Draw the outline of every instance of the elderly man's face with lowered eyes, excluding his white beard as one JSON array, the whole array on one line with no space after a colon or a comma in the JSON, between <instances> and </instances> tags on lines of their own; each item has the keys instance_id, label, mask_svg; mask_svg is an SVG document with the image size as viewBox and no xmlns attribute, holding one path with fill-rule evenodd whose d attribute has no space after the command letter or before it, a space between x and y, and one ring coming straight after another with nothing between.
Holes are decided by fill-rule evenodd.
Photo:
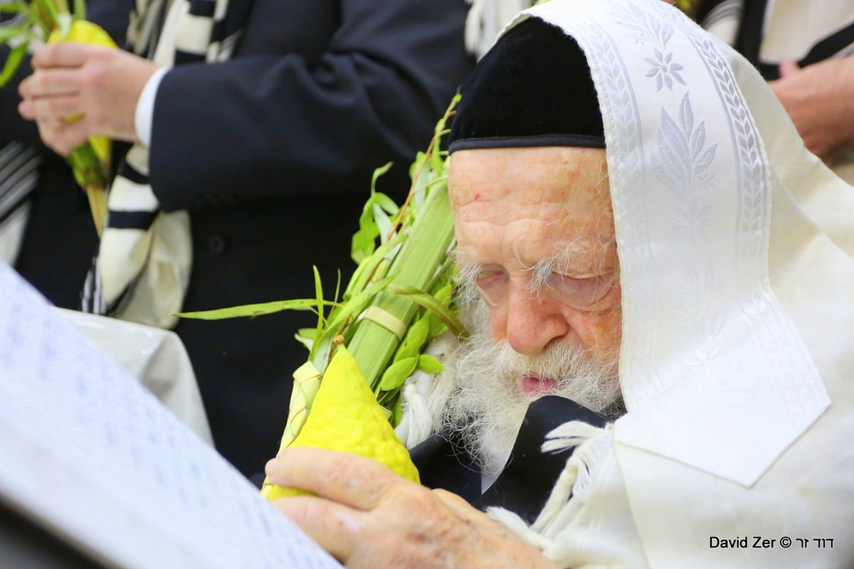
<instances>
[{"instance_id":1,"label":"elderly man's face with lowered eyes, excluding his white beard","mask_svg":"<svg viewBox=\"0 0 854 569\"><path fill-rule=\"evenodd\" d=\"M458 262L489 306L493 339L528 357L568 344L614 361L621 305L605 151L461 150L449 184ZM523 375L519 388L540 395L554 382Z\"/></svg>"}]
</instances>

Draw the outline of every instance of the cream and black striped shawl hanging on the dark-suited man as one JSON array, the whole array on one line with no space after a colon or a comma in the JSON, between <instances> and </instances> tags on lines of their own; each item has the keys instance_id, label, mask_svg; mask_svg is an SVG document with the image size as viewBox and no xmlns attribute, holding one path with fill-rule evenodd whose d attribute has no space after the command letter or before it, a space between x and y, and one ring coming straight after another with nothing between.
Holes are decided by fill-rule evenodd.
<instances>
[{"instance_id":1,"label":"cream and black striped shawl hanging on the dark-suited man","mask_svg":"<svg viewBox=\"0 0 854 569\"><path fill-rule=\"evenodd\" d=\"M221 61L227 0L137 0L128 41L165 67ZM187 212L162 212L149 185L149 150L135 144L109 189L107 223L85 282L83 310L172 328L190 278Z\"/></svg>"}]
</instances>

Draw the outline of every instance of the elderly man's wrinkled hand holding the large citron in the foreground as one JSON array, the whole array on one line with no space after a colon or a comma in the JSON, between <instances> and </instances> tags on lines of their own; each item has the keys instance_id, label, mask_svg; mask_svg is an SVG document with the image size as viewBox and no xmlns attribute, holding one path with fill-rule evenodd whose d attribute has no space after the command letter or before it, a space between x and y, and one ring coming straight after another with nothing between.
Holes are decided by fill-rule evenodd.
<instances>
[{"instance_id":1,"label":"elderly man's wrinkled hand holding the large citron in the foreground","mask_svg":"<svg viewBox=\"0 0 854 569\"><path fill-rule=\"evenodd\" d=\"M317 494L272 503L348 569L557 567L459 496L363 456L287 449L267 463L266 475Z\"/></svg>"}]
</instances>

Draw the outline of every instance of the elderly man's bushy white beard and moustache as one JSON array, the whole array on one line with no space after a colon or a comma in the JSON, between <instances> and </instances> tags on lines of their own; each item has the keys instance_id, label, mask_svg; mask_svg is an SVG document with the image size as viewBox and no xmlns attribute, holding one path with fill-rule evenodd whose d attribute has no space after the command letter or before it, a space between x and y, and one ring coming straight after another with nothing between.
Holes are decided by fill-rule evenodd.
<instances>
[{"instance_id":1,"label":"elderly man's bushy white beard and moustache","mask_svg":"<svg viewBox=\"0 0 854 569\"><path fill-rule=\"evenodd\" d=\"M504 467L531 401L519 388L523 375L553 378L548 395L569 398L604 415L618 415L623 399L617 380L617 354L603 363L575 345L552 345L538 357L519 354L506 340L495 343L482 300L460 307L470 336L444 362L452 378L442 421L461 434L466 450L486 476ZM541 396L539 396L541 397Z\"/></svg>"}]
</instances>

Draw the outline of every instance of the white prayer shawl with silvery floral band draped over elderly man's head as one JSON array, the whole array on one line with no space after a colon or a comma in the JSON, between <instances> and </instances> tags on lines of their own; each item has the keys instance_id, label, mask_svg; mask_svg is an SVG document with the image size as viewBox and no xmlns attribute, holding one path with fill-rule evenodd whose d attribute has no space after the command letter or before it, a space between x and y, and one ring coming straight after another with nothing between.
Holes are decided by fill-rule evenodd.
<instances>
[{"instance_id":1,"label":"white prayer shawl with silvery floral band draped over elderly man's head","mask_svg":"<svg viewBox=\"0 0 854 569\"><path fill-rule=\"evenodd\" d=\"M576 38L598 92L628 413L552 433L576 449L533 525L490 514L563 567L851 567L854 190L667 3L528 17Z\"/></svg>"}]
</instances>

